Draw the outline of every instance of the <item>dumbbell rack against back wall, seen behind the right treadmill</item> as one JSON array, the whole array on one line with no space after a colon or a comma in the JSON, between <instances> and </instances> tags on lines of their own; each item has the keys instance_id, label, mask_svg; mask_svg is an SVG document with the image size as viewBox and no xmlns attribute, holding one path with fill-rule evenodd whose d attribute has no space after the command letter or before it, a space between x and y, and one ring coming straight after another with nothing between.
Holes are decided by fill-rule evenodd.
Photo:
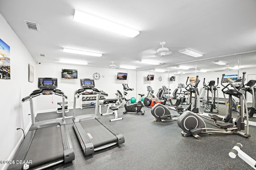
<instances>
[{"instance_id":1,"label":"dumbbell rack against back wall, seen behind the right treadmill","mask_svg":"<svg viewBox=\"0 0 256 170\"><path fill-rule=\"evenodd\" d=\"M83 109L86 107L95 107L96 97L97 97L97 94L95 92L93 92L93 93L84 92L80 98L80 109ZM100 96L99 104L102 104L104 99L105 99L104 96ZM92 102L94 102L94 105L91 105Z\"/></svg>"}]
</instances>

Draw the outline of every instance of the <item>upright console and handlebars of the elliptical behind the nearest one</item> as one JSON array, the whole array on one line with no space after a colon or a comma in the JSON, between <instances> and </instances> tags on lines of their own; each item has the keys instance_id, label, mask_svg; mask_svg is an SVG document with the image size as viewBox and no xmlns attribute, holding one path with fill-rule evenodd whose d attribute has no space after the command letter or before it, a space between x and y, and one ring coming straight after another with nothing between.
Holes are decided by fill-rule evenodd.
<instances>
[{"instance_id":1,"label":"upright console and handlebars of the elliptical behind the nearest one","mask_svg":"<svg viewBox=\"0 0 256 170\"><path fill-rule=\"evenodd\" d=\"M199 106L200 106L200 98L199 98L199 92L198 92L198 84L200 80L198 80L198 76L196 76L196 81L193 83L188 84L188 79L186 81L186 90L188 90L189 94L189 106L186 110L192 111L194 113L199 113ZM195 94L194 96L194 107L192 108L192 94Z\"/></svg>"}]
</instances>

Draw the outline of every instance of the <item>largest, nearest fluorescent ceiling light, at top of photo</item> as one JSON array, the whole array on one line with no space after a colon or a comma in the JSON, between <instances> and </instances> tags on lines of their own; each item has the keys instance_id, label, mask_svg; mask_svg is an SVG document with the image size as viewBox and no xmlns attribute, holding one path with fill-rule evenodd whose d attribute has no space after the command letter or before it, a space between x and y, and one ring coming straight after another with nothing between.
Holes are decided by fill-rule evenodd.
<instances>
[{"instance_id":1,"label":"largest, nearest fluorescent ceiling light, at top of photo","mask_svg":"<svg viewBox=\"0 0 256 170\"><path fill-rule=\"evenodd\" d=\"M128 27L124 27L122 25L118 25L116 23L103 20L101 18L86 14L78 10L75 10L73 20L90 26L105 29L107 31L118 33L121 35L126 35L127 37L135 37L140 33L139 31L136 31L134 29L130 29Z\"/></svg>"}]
</instances>

